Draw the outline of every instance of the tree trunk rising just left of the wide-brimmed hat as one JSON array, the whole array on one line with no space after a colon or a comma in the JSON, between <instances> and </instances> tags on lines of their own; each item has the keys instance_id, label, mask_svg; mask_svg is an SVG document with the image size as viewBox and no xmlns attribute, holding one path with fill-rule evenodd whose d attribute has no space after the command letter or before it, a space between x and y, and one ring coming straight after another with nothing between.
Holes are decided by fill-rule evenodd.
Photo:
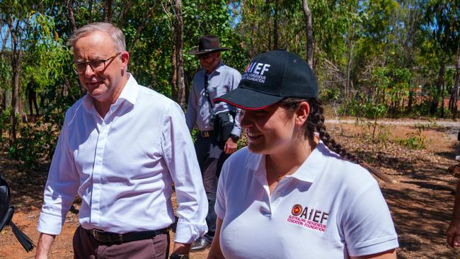
<instances>
[{"instance_id":1,"label":"tree trunk rising just left of the wide-brimmed hat","mask_svg":"<svg viewBox=\"0 0 460 259\"><path fill-rule=\"evenodd\" d=\"M183 21L181 0L174 1L176 26L174 28L173 88L176 88L177 103L185 108L184 60L183 60Z\"/></svg>"}]
</instances>

